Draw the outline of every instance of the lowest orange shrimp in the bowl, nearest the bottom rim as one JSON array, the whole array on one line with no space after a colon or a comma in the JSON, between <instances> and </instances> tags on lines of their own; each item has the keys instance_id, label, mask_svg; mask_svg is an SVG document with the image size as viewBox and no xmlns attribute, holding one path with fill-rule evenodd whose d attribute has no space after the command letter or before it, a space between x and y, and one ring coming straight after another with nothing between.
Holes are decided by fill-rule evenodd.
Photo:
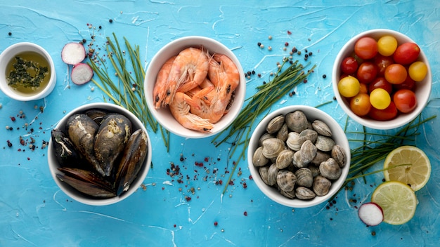
<instances>
[{"instance_id":1,"label":"lowest orange shrimp in the bowl, nearest the bottom rim","mask_svg":"<svg viewBox=\"0 0 440 247\"><path fill-rule=\"evenodd\" d=\"M169 104L169 109L176 119L183 127L194 131L210 132L214 125L209 123L206 119L190 113L190 106L187 101L190 97L185 93L176 92L172 103Z\"/></svg>"}]
</instances>

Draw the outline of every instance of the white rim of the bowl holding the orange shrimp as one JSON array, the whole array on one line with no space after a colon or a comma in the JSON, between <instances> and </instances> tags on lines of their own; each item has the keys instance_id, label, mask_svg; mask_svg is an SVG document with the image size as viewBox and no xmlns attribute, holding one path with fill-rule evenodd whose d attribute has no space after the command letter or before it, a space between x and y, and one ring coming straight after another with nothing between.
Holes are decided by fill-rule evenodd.
<instances>
[{"instance_id":1,"label":"white rim of the bowl holding the orange shrimp","mask_svg":"<svg viewBox=\"0 0 440 247\"><path fill-rule=\"evenodd\" d=\"M162 108L162 109L155 109L153 104L153 97L151 95L147 95L148 93L153 94L153 83L148 83L148 75L151 75L156 78L156 74L153 75L153 64L156 64L157 61L165 62L169 57L167 56L164 58L162 56L162 53L166 53L168 49L176 49L176 47L179 48L179 51L182 51L184 48L188 48L190 46L205 46L206 44L211 44L212 46L217 46L225 51L225 55L228 55L231 60L235 63L237 66L238 71L240 72L240 84L238 85L238 88L236 88L236 94L235 94L235 101L233 102L233 106L230 108L230 111L228 114L222 117L222 119L218 123L214 123L214 128L212 129L212 132L210 133L201 133L198 131L193 131L188 128L184 128L183 126L178 126L179 129L173 129L167 127L167 120L174 121L175 123L178 123L177 121L173 119L164 119L162 118L162 114L159 114L158 111L167 111L169 112L169 109ZM209 49L209 47L208 47ZM177 54L175 54L177 55ZM160 62L162 66L163 62ZM160 69L160 67L159 67ZM153 86L152 86L153 84ZM144 93L145 93L145 100L147 101L147 106L150 109L150 112L153 114L155 119L158 123L160 123L161 126L167 129L167 131L174 133L175 135L179 135L183 138L207 138L212 135L216 135L217 133L223 131L224 129L228 128L228 126L232 123L233 119L235 119L238 114L240 114L240 110L242 108L242 105L245 101L245 93L246 93L246 80L245 75L242 69L242 65L240 64L240 61L238 60L237 56L226 47L224 44L221 44L221 42L216 41L215 39L209 38L207 36L183 36L178 39L174 39L173 41L170 41L168 44L164 45L162 48L160 48L159 51L153 56L152 60L150 60L150 63L148 65L148 68L145 72L145 81L144 81ZM242 100L238 100L242 99ZM232 110L233 109L233 110ZM170 113L169 113L170 114ZM180 125L180 123L178 123ZM220 127L219 127L220 126Z\"/></svg>"}]
</instances>

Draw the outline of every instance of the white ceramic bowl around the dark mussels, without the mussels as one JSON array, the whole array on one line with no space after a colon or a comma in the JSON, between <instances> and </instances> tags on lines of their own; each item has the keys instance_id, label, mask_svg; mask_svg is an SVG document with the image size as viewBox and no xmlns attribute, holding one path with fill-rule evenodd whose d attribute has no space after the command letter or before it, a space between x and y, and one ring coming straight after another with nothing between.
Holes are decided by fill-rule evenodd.
<instances>
[{"instance_id":1,"label":"white ceramic bowl around the dark mussels, without the mussels","mask_svg":"<svg viewBox=\"0 0 440 247\"><path fill-rule=\"evenodd\" d=\"M81 107L77 107L73 109L71 112L65 114L63 118L58 122L58 125L56 128L64 128L64 126L67 123L67 119L72 116L73 114L80 113L80 112L86 112L86 110L89 109L104 109L108 112L115 112L119 114L123 114L124 116L127 116L127 118L131 121L133 126L133 131L136 131L137 129L142 129L147 133L145 126L143 126L142 122L134 116L131 112L129 112L127 109L123 107L119 107L117 105L113 105L111 103L91 103L87 105L82 105ZM123 192L120 196L108 198L108 199L100 199L100 198L94 198L93 196L87 196L85 194L82 194L81 192L77 191L77 189L74 189L70 185L67 185L67 183L60 181L56 174L62 174L60 171L58 171L58 168L60 168L60 164L58 163L55 153L53 150L53 144L52 144L52 138L49 140L48 145L48 166L51 171L51 175L53 180L55 180L58 187L60 187L67 196L70 196L72 199L75 199L76 201L79 201L84 204L93 205L93 206L104 206L104 205L110 205L112 203L117 203L118 201L122 201L129 197L131 194L136 192L136 190L141 186L143 180L145 180L145 177L150 169L150 163L151 163L151 145L150 145L150 138L148 136L148 154L145 158L145 161L143 163L143 166L141 170L139 171L136 179L131 182L131 185L129 189L126 192Z\"/></svg>"}]
</instances>

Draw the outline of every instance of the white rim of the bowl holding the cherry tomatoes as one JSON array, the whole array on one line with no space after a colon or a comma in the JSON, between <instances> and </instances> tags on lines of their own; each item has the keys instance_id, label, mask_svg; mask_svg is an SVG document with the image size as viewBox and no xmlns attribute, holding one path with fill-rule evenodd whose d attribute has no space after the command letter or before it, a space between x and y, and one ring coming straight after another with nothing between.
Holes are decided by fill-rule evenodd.
<instances>
[{"instance_id":1,"label":"white rim of the bowl holding the cherry tomatoes","mask_svg":"<svg viewBox=\"0 0 440 247\"><path fill-rule=\"evenodd\" d=\"M342 46L342 48L340 49L339 53L337 54L337 56L335 58L335 62L333 63L333 68L332 68L332 88L333 88L333 91L335 92L335 97L337 99L337 102L342 107L344 112L347 115L349 115L351 119L354 119L354 121L356 121L357 123L360 123L363 126L366 126L368 128L374 128L377 130L389 130L389 129L393 129L393 128L399 128L399 127L405 125L406 123L413 121L413 119L415 119L420 114L420 112L422 112L422 110L425 108L425 106L427 105L427 102L429 100L429 95L431 94L431 90L432 90L431 67L429 65L429 61L427 60L427 56L423 52L422 48L420 48L419 58L422 58L422 60L425 61L425 64L427 65L427 68L428 68L426 78L423 80L424 82L422 85L423 87L426 87L425 90L427 92L425 92L426 94L422 95L423 97L418 96L418 106L416 107L416 109L413 110L413 112L410 112L407 114L399 113L398 117L396 117L395 119L389 120L389 121L377 121L377 120L369 119L369 118L365 119L361 116L354 114L354 112L351 112L351 109L345 103L346 100L344 100L342 98L342 96L339 95L338 90L337 90L337 81L339 81L339 79L338 79L339 74L337 73L337 71L339 70L340 63L344 59L344 54L348 53L348 52L344 52L344 51L347 51L347 49L350 46L354 46L354 43L356 42L356 40L363 37L363 36L381 36L384 34L392 34L392 35L394 35L394 37L396 37L396 39L398 41L400 39L406 39L409 42L416 43L415 41L413 41L413 39L410 39L410 37L406 36L406 34L402 34L401 32L397 32L392 29L370 29L365 32L361 32L359 34L356 34L356 36L353 36L351 39L349 39L349 41L347 41L347 43L344 44L344 46ZM422 81L420 81L420 82L422 82Z\"/></svg>"}]
</instances>

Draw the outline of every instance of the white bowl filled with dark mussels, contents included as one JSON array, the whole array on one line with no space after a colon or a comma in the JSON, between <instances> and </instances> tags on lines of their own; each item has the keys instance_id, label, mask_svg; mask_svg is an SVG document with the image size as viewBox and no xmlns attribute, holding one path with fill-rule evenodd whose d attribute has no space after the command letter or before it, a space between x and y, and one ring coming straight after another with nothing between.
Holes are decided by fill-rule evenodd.
<instances>
[{"instance_id":1,"label":"white bowl filled with dark mussels, contents included","mask_svg":"<svg viewBox=\"0 0 440 247\"><path fill-rule=\"evenodd\" d=\"M81 203L103 206L133 194L151 163L143 123L123 107L91 103L73 109L51 131L48 165L56 184Z\"/></svg>"}]
</instances>

